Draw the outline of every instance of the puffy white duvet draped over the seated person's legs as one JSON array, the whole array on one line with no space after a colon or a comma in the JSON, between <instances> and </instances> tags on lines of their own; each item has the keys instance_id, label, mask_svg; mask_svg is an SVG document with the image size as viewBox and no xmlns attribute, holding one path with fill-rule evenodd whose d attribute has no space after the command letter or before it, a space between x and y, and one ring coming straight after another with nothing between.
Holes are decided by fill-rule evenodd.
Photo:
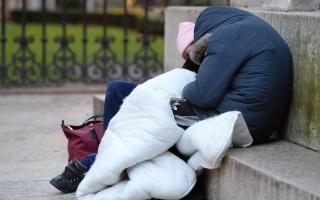
<instances>
[{"instance_id":1,"label":"puffy white duvet draped over the seated person's legs","mask_svg":"<svg viewBox=\"0 0 320 200\"><path fill-rule=\"evenodd\" d=\"M78 187L79 200L180 199L196 182L196 170L216 168L226 150L252 142L240 112L176 125L170 98L181 97L195 74L174 69L139 86L110 121L95 163ZM190 156L188 163L168 152Z\"/></svg>"}]
</instances>

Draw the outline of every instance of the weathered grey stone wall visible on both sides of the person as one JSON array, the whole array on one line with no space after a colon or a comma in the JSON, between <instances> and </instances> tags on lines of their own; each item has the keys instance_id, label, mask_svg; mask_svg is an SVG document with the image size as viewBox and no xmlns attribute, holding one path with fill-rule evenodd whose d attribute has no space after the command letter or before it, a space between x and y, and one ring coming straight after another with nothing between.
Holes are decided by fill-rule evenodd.
<instances>
[{"instance_id":1,"label":"weathered grey stone wall visible on both sides of the person","mask_svg":"<svg viewBox=\"0 0 320 200\"><path fill-rule=\"evenodd\" d=\"M272 1L269 1L269 5ZM289 8L290 5L297 5L292 3L298 1L277 2L278 5L287 3ZM231 5L232 2L235 1L231 0ZM311 2L316 5L318 1L310 0ZM303 6L305 5L301 4L299 9L304 9ZM179 22L195 21L203 9L204 7L169 7L166 10L165 70L183 64L183 59L179 57L175 46ZM267 11L262 7L246 8L246 10L269 22L283 36L292 51L293 102L283 137L308 148L320 150L320 11L280 12Z\"/></svg>"}]
</instances>

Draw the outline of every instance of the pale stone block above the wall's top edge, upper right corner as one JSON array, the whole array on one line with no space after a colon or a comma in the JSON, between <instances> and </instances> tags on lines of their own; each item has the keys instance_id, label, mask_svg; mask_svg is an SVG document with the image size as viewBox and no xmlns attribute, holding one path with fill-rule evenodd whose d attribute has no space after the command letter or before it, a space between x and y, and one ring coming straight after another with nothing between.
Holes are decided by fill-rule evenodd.
<instances>
[{"instance_id":1,"label":"pale stone block above the wall's top edge, upper right corner","mask_svg":"<svg viewBox=\"0 0 320 200\"><path fill-rule=\"evenodd\" d=\"M320 0L267 0L263 8L274 11L314 11L319 10Z\"/></svg>"}]
</instances>

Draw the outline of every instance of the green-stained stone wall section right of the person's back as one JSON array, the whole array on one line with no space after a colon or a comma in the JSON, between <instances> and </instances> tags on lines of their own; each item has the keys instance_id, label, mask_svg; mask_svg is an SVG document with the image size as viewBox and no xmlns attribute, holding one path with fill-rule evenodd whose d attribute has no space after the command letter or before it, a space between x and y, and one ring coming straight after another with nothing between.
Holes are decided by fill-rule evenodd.
<instances>
[{"instance_id":1,"label":"green-stained stone wall section right of the person's back","mask_svg":"<svg viewBox=\"0 0 320 200\"><path fill-rule=\"evenodd\" d=\"M252 12L279 31L293 55L293 102L284 137L320 150L320 11Z\"/></svg>"}]
</instances>

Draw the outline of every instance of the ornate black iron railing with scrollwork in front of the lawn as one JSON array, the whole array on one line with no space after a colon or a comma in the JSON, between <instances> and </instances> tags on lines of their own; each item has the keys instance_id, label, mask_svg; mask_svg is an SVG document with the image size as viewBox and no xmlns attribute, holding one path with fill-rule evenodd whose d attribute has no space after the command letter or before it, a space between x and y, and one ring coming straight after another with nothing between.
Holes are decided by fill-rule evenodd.
<instances>
[{"instance_id":1,"label":"ornate black iron railing with scrollwork in front of the lawn","mask_svg":"<svg viewBox=\"0 0 320 200\"><path fill-rule=\"evenodd\" d=\"M62 4L62 34L55 38L48 38L47 30L47 0L41 1L41 38L28 36L27 29L27 0L22 1L21 13L21 35L14 38L18 48L10 55L10 61L6 59L7 44L7 13L6 4L9 0L1 0L1 66L0 66L0 87L18 85L50 85L66 82L105 83L113 79L125 79L144 81L162 72L162 60L157 51L151 47L154 38L149 33L149 8L150 1L143 1L144 19L143 34L139 38L140 47L133 53L133 59L129 59L128 52L128 8L127 1L123 1L123 59L111 48L115 38L109 34L108 0L103 0L103 21L101 24L102 35L95 38L99 47L93 55L88 55L88 12L87 3L81 2L82 13L82 59L78 60L74 50L71 48L75 42L74 36L68 34L68 7L67 1L60 1ZM52 0L48 0L52 1ZM120 1L120 0L119 0ZM166 3L168 1L165 1ZM210 2L207 1L209 4ZM41 40L41 56L36 58L34 49L30 48L35 40ZM48 41L54 40L58 48L54 53L48 55ZM37 51L39 52L39 51ZM38 55L39 56L39 55ZM88 59L88 57L93 59Z\"/></svg>"}]
</instances>

